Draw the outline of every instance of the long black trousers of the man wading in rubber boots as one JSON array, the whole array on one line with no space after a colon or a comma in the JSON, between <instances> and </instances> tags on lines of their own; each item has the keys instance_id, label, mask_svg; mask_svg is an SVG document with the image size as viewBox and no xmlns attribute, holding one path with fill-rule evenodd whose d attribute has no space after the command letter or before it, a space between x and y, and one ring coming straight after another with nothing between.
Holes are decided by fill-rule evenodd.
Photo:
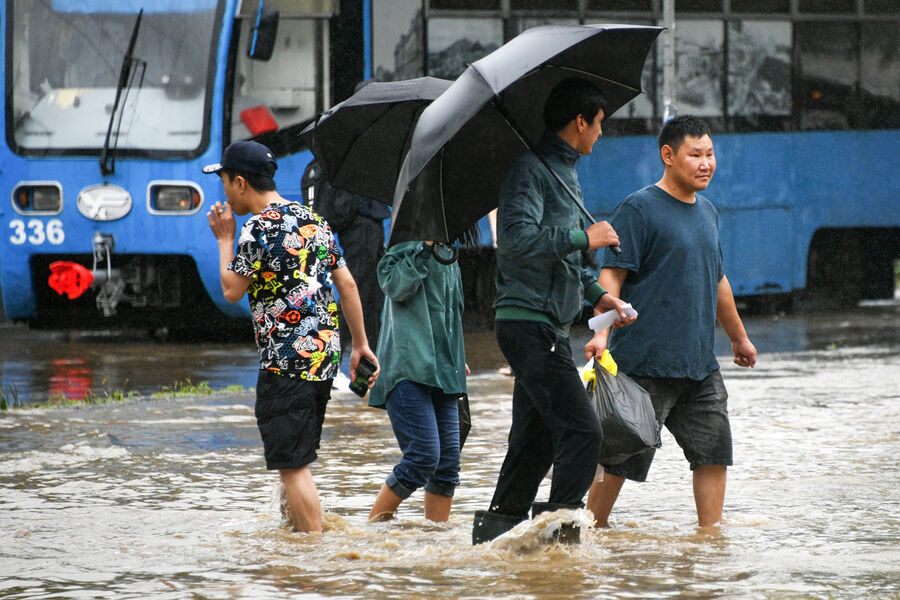
<instances>
[{"instance_id":1,"label":"long black trousers of the man wading in rubber boots","mask_svg":"<svg viewBox=\"0 0 900 600\"><path fill-rule=\"evenodd\" d=\"M516 382L509 449L490 510L528 518L551 465L549 501L584 506L603 434L572 359L569 338L532 321L497 321L495 330Z\"/></svg>"}]
</instances>

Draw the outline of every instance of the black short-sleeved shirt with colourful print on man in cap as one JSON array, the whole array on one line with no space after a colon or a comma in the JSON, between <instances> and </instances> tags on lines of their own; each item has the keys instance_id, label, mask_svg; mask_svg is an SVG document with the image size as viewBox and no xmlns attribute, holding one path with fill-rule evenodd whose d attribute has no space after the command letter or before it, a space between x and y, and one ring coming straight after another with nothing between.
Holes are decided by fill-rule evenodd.
<instances>
[{"instance_id":1,"label":"black short-sleeved shirt with colourful print on man in cap","mask_svg":"<svg viewBox=\"0 0 900 600\"><path fill-rule=\"evenodd\" d=\"M346 266L328 224L297 202L272 203L241 229L229 269L247 294L261 369L332 379L341 360L331 271Z\"/></svg>"}]
</instances>

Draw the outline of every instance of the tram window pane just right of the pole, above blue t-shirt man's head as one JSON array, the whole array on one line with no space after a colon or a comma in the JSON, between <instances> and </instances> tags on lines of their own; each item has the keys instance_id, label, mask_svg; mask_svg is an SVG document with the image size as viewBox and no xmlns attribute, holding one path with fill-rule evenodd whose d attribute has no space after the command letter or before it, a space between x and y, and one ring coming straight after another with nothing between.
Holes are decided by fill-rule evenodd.
<instances>
[{"instance_id":1,"label":"tram window pane just right of the pole, above blue t-shirt man's head","mask_svg":"<svg viewBox=\"0 0 900 600\"><path fill-rule=\"evenodd\" d=\"M722 117L724 23L682 20L675 28L675 95L679 114ZM712 125L712 122L710 123Z\"/></svg>"}]
</instances>

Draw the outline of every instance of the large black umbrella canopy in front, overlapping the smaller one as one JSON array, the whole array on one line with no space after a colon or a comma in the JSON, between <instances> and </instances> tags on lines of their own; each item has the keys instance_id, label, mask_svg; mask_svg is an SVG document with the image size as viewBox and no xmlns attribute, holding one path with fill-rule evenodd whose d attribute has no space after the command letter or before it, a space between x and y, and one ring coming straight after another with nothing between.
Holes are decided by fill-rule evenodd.
<instances>
[{"instance_id":1,"label":"large black umbrella canopy in front, overlapping the smaller one","mask_svg":"<svg viewBox=\"0 0 900 600\"><path fill-rule=\"evenodd\" d=\"M470 65L419 116L397 179L389 243L451 241L496 208L507 167L540 138L550 90L563 79L587 79L611 115L641 92L660 31L535 27Z\"/></svg>"}]
</instances>

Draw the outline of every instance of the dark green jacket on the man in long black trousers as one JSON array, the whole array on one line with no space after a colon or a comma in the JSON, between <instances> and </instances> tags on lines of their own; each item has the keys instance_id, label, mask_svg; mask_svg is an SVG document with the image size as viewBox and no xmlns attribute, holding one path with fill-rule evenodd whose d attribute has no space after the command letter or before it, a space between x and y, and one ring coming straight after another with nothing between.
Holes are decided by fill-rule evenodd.
<instances>
[{"instance_id":1,"label":"dark green jacket on the man in long black trousers","mask_svg":"<svg viewBox=\"0 0 900 600\"><path fill-rule=\"evenodd\" d=\"M535 148L579 198L575 162L581 154L552 132ZM575 202L541 164L524 152L506 171L497 212L497 320L541 321L568 334L584 300L605 290L582 266L584 220Z\"/></svg>"}]
</instances>

